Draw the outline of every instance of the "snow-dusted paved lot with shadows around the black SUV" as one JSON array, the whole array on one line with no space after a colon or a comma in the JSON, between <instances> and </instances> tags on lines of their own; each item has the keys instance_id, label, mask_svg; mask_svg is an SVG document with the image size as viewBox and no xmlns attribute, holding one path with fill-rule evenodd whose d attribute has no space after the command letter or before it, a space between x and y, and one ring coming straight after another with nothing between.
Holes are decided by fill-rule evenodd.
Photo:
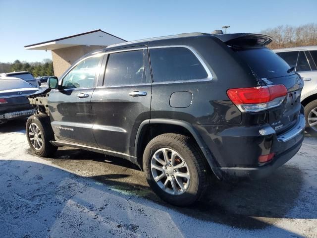
<instances>
[{"instance_id":1,"label":"snow-dusted paved lot with shadows around the black SUV","mask_svg":"<svg viewBox=\"0 0 317 238\"><path fill-rule=\"evenodd\" d=\"M216 182L177 208L122 159L67 147L32 155L24 125L0 125L0 238L317 237L317 138L269 178Z\"/></svg>"}]
</instances>

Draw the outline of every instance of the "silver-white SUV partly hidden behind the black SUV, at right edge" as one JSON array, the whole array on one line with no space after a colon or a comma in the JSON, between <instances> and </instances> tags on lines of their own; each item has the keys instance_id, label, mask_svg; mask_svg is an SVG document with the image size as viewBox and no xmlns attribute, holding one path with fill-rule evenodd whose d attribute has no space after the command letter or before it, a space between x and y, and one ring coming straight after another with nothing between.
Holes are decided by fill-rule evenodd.
<instances>
[{"instance_id":1,"label":"silver-white SUV partly hidden behind the black SUV, at right edge","mask_svg":"<svg viewBox=\"0 0 317 238\"><path fill-rule=\"evenodd\" d=\"M305 107L306 131L317 135L317 46L273 50L304 80L301 103Z\"/></svg>"}]
</instances>

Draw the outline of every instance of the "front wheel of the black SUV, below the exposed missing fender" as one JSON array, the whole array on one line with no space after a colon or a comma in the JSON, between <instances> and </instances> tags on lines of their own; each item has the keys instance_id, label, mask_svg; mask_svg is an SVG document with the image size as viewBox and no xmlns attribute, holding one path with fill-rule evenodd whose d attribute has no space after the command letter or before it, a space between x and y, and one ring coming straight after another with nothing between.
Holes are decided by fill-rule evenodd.
<instances>
[{"instance_id":1,"label":"front wheel of the black SUV, below the exposed missing fender","mask_svg":"<svg viewBox=\"0 0 317 238\"><path fill-rule=\"evenodd\" d=\"M37 114L28 118L26 137L36 155L47 157L53 155L57 150L57 147L50 142L54 140L54 132L50 118L46 114Z\"/></svg>"}]
</instances>

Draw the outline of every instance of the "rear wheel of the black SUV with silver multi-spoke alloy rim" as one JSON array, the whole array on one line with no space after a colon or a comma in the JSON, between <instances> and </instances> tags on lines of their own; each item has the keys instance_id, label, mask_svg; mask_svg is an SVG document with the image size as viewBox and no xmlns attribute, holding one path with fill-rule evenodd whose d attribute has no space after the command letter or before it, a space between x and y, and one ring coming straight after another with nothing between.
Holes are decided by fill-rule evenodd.
<instances>
[{"instance_id":1,"label":"rear wheel of the black SUV with silver multi-spoke alloy rim","mask_svg":"<svg viewBox=\"0 0 317 238\"><path fill-rule=\"evenodd\" d=\"M143 154L146 179L164 201L187 206L199 200L210 182L210 169L195 141L166 133L152 139Z\"/></svg>"}]
</instances>

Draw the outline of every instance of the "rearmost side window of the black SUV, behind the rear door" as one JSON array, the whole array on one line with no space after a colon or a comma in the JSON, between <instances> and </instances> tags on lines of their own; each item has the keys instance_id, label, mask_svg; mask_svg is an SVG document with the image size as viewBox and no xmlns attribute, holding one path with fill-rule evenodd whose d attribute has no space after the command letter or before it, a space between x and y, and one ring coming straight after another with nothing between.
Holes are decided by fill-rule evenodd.
<instances>
[{"instance_id":1,"label":"rearmost side window of the black SUV, behind the rear door","mask_svg":"<svg viewBox=\"0 0 317 238\"><path fill-rule=\"evenodd\" d=\"M208 74L194 53L185 47L150 49L154 82L205 79Z\"/></svg>"}]
</instances>

